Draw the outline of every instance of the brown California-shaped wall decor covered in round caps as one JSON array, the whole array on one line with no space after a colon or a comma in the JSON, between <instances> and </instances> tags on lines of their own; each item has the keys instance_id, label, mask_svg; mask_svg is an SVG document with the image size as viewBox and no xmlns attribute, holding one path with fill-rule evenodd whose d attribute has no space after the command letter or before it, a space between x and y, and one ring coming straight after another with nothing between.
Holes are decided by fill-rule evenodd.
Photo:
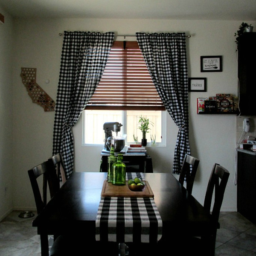
<instances>
[{"instance_id":1,"label":"brown California-shaped wall decor covered in round caps","mask_svg":"<svg viewBox=\"0 0 256 256\"><path fill-rule=\"evenodd\" d=\"M20 76L33 103L44 111L54 111L54 100L36 83L36 68L22 67Z\"/></svg>"}]
</instances>

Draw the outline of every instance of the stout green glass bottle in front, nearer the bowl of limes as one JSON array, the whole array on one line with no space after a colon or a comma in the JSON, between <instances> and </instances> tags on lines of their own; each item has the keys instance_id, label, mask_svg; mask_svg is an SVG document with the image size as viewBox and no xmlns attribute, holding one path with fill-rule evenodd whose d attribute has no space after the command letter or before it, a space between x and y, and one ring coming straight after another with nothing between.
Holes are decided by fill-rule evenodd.
<instances>
[{"instance_id":1,"label":"stout green glass bottle in front, nearer the bowl of limes","mask_svg":"<svg viewBox=\"0 0 256 256\"><path fill-rule=\"evenodd\" d=\"M117 155L116 163L112 165L112 180L111 183L113 185L125 185L126 178L126 166L122 162L122 154Z\"/></svg>"}]
</instances>

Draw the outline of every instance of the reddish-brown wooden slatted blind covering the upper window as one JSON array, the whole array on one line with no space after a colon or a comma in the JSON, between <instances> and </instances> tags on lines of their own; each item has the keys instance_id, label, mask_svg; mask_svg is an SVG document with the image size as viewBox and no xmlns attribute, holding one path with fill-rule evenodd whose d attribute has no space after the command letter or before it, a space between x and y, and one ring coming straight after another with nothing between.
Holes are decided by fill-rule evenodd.
<instances>
[{"instance_id":1,"label":"reddish-brown wooden slatted blind covering the upper window","mask_svg":"<svg viewBox=\"0 0 256 256\"><path fill-rule=\"evenodd\" d=\"M165 110L136 41L113 43L102 79L85 109Z\"/></svg>"}]
</instances>

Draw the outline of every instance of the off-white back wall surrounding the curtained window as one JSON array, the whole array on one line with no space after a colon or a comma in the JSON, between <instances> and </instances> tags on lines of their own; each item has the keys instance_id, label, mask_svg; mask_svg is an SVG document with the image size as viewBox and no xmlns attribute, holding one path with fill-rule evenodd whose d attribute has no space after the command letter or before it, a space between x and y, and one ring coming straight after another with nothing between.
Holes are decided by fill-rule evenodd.
<instances>
[{"instance_id":1,"label":"off-white back wall surrounding the curtained window","mask_svg":"<svg viewBox=\"0 0 256 256\"><path fill-rule=\"evenodd\" d=\"M234 32L242 21L221 20L122 20L122 19L47 19L15 20L15 59L13 61L13 108L15 165L13 167L14 209L35 209L27 170L52 154L54 112L44 112L32 103L21 82L21 67L37 68L37 83L56 100L63 37L67 31L113 31L119 35L135 32L186 32L189 77L207 77L207 92L189 93L189 139L191 153L200 160L193 195L204 200L209 174L214 163L230 171L222 209L236 210L235 170L236 116L198 115L196 98L216 93L237 95L237 63ZM255 22L247 21L254 26ZM0 28L1 29L1 28ZM126 38L133 40L135 38ZM123 40L118 37L117 40ZM223 55L223 72L201 73L201 55ZM49 79L49 84L45 81ZM7 80L7 79L6 79ZM2 89L1 89L2 90ZM8 108L6 108L8 110ZM81 118L73 128L75 169L99 172L102 147L86 147L81 142ZM103 132L103 130L102 130ZM172 172L177 127L168 116L167 146L148 148L154 172ZM1 171L0 171L1 172ZM1 185L3 186L3 185ZM3 190L3 187L0 189ZM1 191L2 191L1 190Z\"/></svg>"}]
</instances>

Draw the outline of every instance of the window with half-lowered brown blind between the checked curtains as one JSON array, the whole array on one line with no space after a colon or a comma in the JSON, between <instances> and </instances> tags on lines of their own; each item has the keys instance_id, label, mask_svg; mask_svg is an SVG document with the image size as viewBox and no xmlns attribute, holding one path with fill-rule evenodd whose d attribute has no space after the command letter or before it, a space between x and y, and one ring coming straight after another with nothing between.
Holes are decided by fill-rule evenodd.
<instances>
[{"instance_id":1,"label":"window with half-lowered brown blind between the checked curtains","mask_svg":"<svg viewBox=\"0 0 256 256\"><path fill-rule=\"evenodd\" d=\"M115 41L95 93L83 111L83 145L103 145L105 122L120 122L126 145L141 142L140 116L152 125L148 145L166 145L166 111L135 41ZM115 136L116 134L113 134Z\"/></svg>"}]
</instances>

